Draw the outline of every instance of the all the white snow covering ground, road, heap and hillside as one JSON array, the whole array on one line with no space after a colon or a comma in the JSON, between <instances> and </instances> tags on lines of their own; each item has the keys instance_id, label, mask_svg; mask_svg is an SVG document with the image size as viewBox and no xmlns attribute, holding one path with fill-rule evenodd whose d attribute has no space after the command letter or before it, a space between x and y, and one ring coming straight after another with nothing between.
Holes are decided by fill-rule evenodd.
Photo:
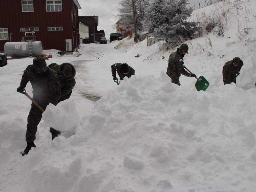
<instances>
[{"instance_id":1,"label":"all the white snow covering ground, road, heap and hillside","mask_svg":"<svg viewBox=\"0 0 256 192\"><path fill-rule=\"evenodd\" d=\"M256 2L239 1L239 14L230 2L218 4L232 11L224 36L186 42L185 65L210 82L205 92L196 91L193 77L170 83L171 51L159 51L162 42L82 44L61 57L44 50L53 55L47 65L75 66L76 86L69 100L48 106L27 156L20 151L31 101L16 89L32 59L8 60L0 68L0 191L254 192ZM235 21L245 15L250 30L240 40ZM244 61L237 84L224 86L222 67L237 56ZM117 85L116 62L128 63L135 76ZM30 83L26 91L32 96ZM53 141L51 122L66 131Z\"/></svg>"}]
</instances>

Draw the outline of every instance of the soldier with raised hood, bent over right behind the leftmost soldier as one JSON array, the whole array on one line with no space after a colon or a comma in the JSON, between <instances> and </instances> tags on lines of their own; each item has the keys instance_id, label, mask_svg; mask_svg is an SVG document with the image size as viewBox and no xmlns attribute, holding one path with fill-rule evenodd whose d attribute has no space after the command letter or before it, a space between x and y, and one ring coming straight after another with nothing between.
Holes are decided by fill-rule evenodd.
<instances>
[{"instance_id":1,"label":"soldier with raised hood, bent over right behind the leftmost soldier","mask_svg":"<svg viewBox=\"0 0 256 192\"><path fill-rule=\"evenodd\" d=\"M58 65L57 63L52 63L48 65L49 68L55 70L60 77L60 101L66 100L71 96L72 89L76 84L75 76L76 69L70 63L62 63Z\"/></svg>"}]
</instances>

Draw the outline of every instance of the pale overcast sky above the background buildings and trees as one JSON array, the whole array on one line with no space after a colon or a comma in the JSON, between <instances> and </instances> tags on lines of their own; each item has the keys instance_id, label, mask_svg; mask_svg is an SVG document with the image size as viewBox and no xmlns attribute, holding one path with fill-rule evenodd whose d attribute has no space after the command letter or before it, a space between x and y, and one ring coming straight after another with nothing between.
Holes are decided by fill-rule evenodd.
<instances>
[{"instance_id":1,"label":"pale overcast sky above the background buildings and trees","mask_svg":"<svg viewBox=\"0 0 256 192\"><path fill-rule=\"evenodd\" d=\"M78 0L81 9L79 9L79 16L99 16L98 30L104 29L106 37L109 39L110 33L116 33L116 29L113 29L111 25L117 22L115 15L117 14L117 6L122 0ZM210 0L189 0L189 3L195 8L204 6ZM214 0L212 0L214 1ZM119 5L121 6L121 5ZM113 11L112 11L113 10Z\"/></svg>"}]
</instances>

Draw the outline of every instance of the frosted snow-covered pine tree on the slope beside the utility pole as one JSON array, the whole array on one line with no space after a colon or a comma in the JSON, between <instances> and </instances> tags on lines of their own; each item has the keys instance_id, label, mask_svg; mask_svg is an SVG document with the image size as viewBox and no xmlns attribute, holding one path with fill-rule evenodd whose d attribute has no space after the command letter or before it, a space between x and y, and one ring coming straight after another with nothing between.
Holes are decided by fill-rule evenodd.
<instances>
[{"instance_id":1,"label":"frosted snow-covered pine tree on the slope beside the utility pole","mask_svg":"<svg viewBox=\"0 0 256 192\"><path fill-rule=\"evenodd\" d=\"M167 48L173 48L195 33L199 27L196 22L188 22L192 8L188 0L154 0L142 22L148 34L166 40Z\"/></svg>"}]
</instances>

